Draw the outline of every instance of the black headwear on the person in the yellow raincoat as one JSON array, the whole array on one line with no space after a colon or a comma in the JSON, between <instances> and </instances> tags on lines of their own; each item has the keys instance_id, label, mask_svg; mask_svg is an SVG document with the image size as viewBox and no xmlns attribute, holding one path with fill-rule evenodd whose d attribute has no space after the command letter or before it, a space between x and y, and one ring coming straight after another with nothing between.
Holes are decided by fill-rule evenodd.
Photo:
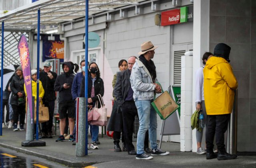
<instances>
[{"instance_id":1,"label":"black headwear on the person in the yellow raincoat","mask_svg":"<svg viewBox=\"0 0 256 168\"><path fill-rule=\"evenodd\" d=\"M228 46L227 44L219 43L215 46L213 55L217 57L222 57L228 62L230 62L229 60L230 50L231 50L231 47Z\"/></svg>"}]
</instances>

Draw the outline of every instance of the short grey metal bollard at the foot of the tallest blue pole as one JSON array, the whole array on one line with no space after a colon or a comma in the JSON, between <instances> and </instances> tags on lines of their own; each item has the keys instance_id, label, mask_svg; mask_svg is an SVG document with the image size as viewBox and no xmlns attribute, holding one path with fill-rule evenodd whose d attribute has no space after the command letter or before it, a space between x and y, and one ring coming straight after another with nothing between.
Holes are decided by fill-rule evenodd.
<instances>
[{"instance_id":1,"label":"short grey metal bollard at the foot of the tallest blue pole","mask_svg":"<svg viewBox=\"0 0 256 168\"><path fill-rule=\"evenodd\" d=\"M76 121L77 124L76 126L78 127L77 132L76 132L76 156L84 156L86 153L86 121L87 118L85 117L85 112L87 109L86 106L86 98L77 98L76 100L76 109L77 109L77 114L76 114Z\"/></svg>"}]
</instances>

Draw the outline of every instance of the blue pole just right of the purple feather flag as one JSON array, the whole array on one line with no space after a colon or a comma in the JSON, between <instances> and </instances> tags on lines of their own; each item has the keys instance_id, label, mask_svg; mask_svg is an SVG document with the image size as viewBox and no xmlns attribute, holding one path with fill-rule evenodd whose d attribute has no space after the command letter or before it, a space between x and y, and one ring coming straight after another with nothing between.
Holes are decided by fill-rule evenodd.
<instances>
[{"instance_id":1,"label":"blue pole just right of the purple feather flag","mask_svg":"<svg viewBox=\"0 0 256 168\"><path fill-rule=\"evenodd\" d=\"M38 140L39 108L39 57L40 54L40 9L37 10L37 80L36 80L36 140Z\"/></svg>"}]
</instances>

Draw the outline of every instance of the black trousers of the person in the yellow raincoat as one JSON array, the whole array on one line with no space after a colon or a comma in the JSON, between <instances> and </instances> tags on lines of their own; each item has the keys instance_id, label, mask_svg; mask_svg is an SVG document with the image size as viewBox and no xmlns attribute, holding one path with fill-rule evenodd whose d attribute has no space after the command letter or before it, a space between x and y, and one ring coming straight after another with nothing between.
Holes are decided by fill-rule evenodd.
<instances>
[{"instance_id":1,"label":"black trousers of the person in the yellow raincoat","mask_svg":"<svg viewBox=\"0 0 256 168\"><path fill-rule=\"evenodd\" d=\"M212 153L214 134L216 136L216 145L218 150L224 151L224 134L228 129L230 114L208 115L208 125L206 132L206 152Z\"/></svg>"}]
</instances>

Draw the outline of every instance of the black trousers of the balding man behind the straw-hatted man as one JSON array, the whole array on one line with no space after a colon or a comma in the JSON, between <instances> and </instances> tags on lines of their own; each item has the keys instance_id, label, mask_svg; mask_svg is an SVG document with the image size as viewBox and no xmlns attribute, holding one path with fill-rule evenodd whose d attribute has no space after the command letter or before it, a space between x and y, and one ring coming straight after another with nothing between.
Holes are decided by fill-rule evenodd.
<instances>
[{"instance_id":1,"label":"black trousers of the balding man behind the straw-hatted man","mask_svg":"<svg viewBox=\"0 0 256 168\"><path fill-rule=\"evenodd\" d=\"M132 144L132 134L134 127L135 116L138 116L138 111L135 106L134 101L126 101L122 104L122 114L123 114L123 126L124 126L124 138L126 143L126 148L128 152L134 150L134 145ZM148 148L148 131L145 135L144 148Z\"/></svg>"}]
</instances>

